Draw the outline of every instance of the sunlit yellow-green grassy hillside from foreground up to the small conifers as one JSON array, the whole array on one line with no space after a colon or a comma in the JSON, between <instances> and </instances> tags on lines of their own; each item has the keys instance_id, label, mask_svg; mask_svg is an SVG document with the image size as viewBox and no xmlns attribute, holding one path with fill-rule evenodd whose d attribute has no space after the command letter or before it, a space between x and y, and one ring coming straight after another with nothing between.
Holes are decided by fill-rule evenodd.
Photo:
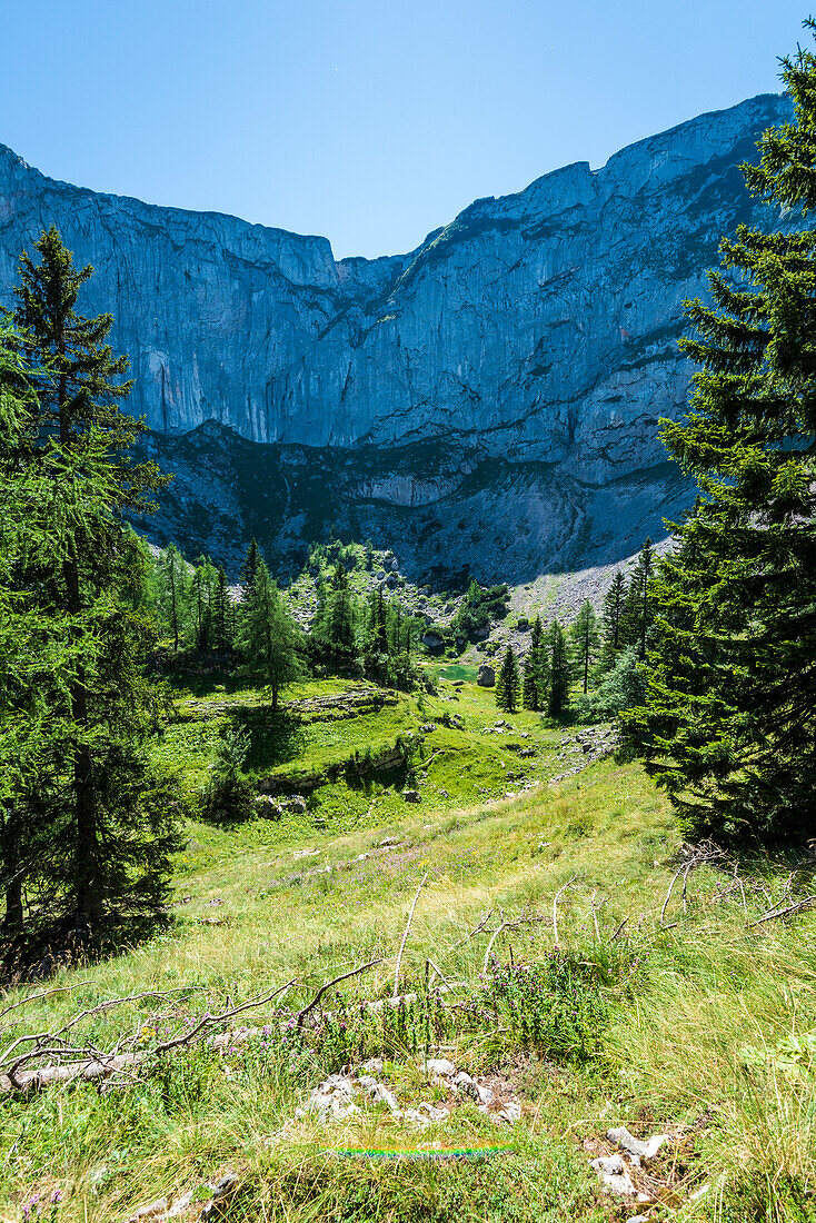
<instances>
[{"instance_id":1,"label":"sunlit yellow-green grassy hillside from foreground up to the small conifers","mask_svg":"<svg viewBox=\"0 0 816 1223\"><path fill-rule=\"evenodd\" d=\"M322 784L305 813L191 824L166 928L11 991L4 1048L152 991L70 1029L76 1044L146 1052L295 983L218 1029L230 1032L220 1044L102 1091L5 1095L4 1219L126 1219L226 1170L230 1219L816 1218L816 922L801 911L751 925L810 895L809 865L714 859L681 871L667 901L684 859L641 768L608 757L555 781L593 751L535 714L497 726L492 693L448 673L421 706L394 695L354 715L344 704L365 685L303 684L275 720L252 690L179 690L159 750L191 794L235 722L252 733L258 783ZM401 769L347 767L398 736L412 745ZM417 997L363 1008L394 993L415 898L398 992ZM297 1031L323 982L371 960L323 997L330 1015L316 1008ZM520 1120L454 1098L428 1055L517 1103ZM384 1059L377 1076L402 1109L449 1115L418 1126L360 1097L340 1120L296 1117L328 1074L368 1058ZM620 1124L669 1136L650 1167L656 1205L621 1202L590 1168ZM361 1151L380 1155L349 1155ZM177 1217L198 1217L206 1196Z\"/></svg>"}]
</instances>

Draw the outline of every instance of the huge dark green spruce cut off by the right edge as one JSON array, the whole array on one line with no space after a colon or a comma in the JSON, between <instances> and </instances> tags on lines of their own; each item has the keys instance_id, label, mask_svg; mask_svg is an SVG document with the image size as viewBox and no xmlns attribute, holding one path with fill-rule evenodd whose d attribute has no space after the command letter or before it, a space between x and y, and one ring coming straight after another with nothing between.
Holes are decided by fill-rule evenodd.
<instances>
[{"instance_id":1,"label":"huge dark green spruce cut off by the right edge","mask_svg":"<svg viewBox=\"0 0 816 1223\"><path fill-rule=\"evenodd\" d=\"M661 565L647 700L626 717L686 828L717 838L816 833L816 57L783 62L793 122L744 174L785 231L740 226L713 305L686 309L702 369L662 437L701 501Z\"/></svg>"}]
</instances>

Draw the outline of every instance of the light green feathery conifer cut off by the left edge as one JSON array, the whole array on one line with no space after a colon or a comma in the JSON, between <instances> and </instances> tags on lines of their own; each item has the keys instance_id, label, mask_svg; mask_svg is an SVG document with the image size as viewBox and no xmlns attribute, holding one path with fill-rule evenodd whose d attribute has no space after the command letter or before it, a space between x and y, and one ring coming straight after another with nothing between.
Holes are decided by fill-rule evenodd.
<instances>
[{"instance_id":1,"label":"light green feathery conifer cut off by the left edge","mask_svg":"<svg viewBox=\"0 0 816 1223\"><path fill-rule=\"evenodd\" d=\"M42 865L57 843L60 815L51 797L70 751L70 718L60 693L73 676L71 621L43 605L24 576L34 566L45 576L51 522L43 510L56 504L65 486L54 478L59 451L31 461L34 404L23 351L20 334L0 317L0 887L6 961L20 949L26 899L29 907L38 906ZM76 499L61 503L60 516L70 516ZM77 508L82 512L82 504Z\"/></svg>"}]
</instances>

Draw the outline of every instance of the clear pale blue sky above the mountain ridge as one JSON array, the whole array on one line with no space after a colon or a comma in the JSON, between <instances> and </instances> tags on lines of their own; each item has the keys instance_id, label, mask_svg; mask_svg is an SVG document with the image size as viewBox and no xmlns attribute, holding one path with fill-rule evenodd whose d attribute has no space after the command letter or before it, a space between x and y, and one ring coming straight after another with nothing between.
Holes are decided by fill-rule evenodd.
<instances>
[{"instance_id":1,"label":"clear pale blue sky above the mountain ridge","mask_svg":"<svg viewBox=\"0 0 816 1223\"><path fill-rule=\"evenodd\" d=\"M45 174L415 247L756 93L806 0L6 0L0 142Z\"/></svg>"}]
</instances>

